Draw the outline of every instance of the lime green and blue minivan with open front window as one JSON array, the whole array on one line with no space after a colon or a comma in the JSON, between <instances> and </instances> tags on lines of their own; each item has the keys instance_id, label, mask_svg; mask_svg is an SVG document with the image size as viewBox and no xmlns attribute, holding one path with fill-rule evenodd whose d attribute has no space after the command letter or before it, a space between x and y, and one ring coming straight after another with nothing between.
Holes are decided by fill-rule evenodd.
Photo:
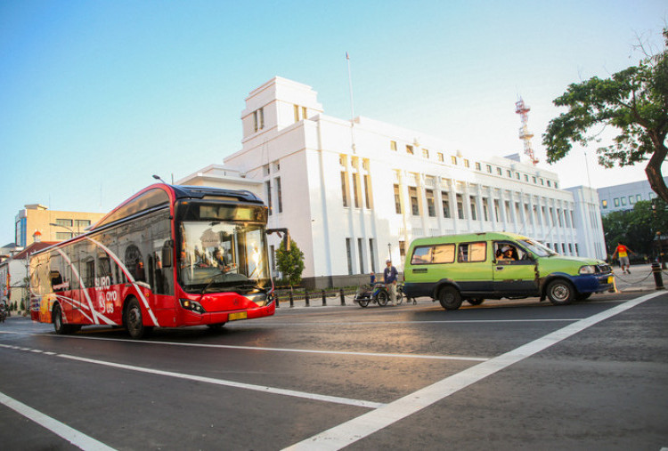
<instances>
[{"instance_id":1,"label":"lime green and blue minivan with open front window","mask_svg":"<svg viewBox=\"0 0 668 451\"><path fill-rule=\"evenodd\" d=\"M568 257L532 238L506 232L416 238L403 269L403 293L429 296L445 310L462 301L545 298L556 305L582 301L613 287L610 265Z\"/></svg>"}]
</instances>

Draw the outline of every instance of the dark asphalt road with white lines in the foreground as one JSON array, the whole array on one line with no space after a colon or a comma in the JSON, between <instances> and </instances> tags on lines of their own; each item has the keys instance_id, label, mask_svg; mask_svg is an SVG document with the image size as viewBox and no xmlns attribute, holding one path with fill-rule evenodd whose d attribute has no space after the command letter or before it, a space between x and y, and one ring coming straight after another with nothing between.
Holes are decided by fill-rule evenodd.
<instances>
[{"instance_id":1,"label":"dark asphalt road with white lines in the foreground","mask_svg":"<svg viewBox=\"0 0 668 451\"><path fill-rule=\"evenodd\" d=\"M70 336L0 324L3 449L668 447L668 294Z\"/></svg>"}]
</instances>

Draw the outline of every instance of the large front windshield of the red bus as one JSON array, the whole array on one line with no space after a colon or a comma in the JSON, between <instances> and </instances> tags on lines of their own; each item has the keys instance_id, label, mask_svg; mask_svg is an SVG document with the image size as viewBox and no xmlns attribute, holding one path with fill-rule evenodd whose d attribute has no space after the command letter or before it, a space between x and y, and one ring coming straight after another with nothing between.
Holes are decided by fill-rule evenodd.
<instances>
[{"instance_id":1,"label":"large front windshield of the red bus","mask_svg":"<svg viewBox=\"0 0 668 451\"><path fill-rule=\"evenodd\" d=\"M243 221L182 221L179 278L188 293L269 289L265 226Z\"/></svg>"}]
</instances>

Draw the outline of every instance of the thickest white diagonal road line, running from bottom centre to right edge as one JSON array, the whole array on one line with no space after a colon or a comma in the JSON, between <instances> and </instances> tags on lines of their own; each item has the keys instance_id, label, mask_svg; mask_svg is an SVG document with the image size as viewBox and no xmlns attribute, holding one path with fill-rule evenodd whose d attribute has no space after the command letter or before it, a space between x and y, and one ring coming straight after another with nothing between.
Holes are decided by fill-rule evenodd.
<instances>
[{"instance_id":1,"label":"thickest white diagonal road line, running from bottom centre to right edge","mask_svg":"<svg viewBox=\"0 0 668 451\"><path fill-rule=\"evenodd\" d=\"M497 373L520 360L534 356L534 354L562 340L566 340L566 338L582 332L582 330L588 327L594 326L607 318L612 318L661 294L664 293L647 294L637 299L623 302L589 318L583 318L574 324L558 329L551 334L544 335L533 342L528 342L515 350L501 354L499 357L491 358L476 366L471 366L460 373L453 374L437 383L433 383L419 391L397 399L385 407L380 407L364 415L360 415L346 423L341 423L330 430L322 431L309 439L305 439L285 449L311 451L314 449L329 450L347 447L355 441L368 437L376 431L403 420L403 418L415 414L421 409L431 406L441 399L447 398L453 393L473 383L477 383L491 374Z\"/></svg>"}]
</instances>

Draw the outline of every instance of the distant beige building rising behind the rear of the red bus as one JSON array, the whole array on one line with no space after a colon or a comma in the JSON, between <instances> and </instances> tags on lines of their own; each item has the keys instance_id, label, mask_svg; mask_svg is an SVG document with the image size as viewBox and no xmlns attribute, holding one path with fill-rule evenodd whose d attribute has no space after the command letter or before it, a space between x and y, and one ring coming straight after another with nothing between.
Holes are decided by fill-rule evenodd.
<instances>
[{"instance_id":1,"label":"distant beige building rising behind the rear of the red bus","mask_svg":"<svg viewBox=\"0 0 668 451\"><path fill-rule=\"evenodd\" d=\"M16 214L14 239L17 246L26 247L35 242L39 232L43 241L62 241L84 233L86 228L99 221L104 213L59 212L44 205L25 205ZM57 225L52 225L57 224Z\"/></svg>"}]
</instances>

